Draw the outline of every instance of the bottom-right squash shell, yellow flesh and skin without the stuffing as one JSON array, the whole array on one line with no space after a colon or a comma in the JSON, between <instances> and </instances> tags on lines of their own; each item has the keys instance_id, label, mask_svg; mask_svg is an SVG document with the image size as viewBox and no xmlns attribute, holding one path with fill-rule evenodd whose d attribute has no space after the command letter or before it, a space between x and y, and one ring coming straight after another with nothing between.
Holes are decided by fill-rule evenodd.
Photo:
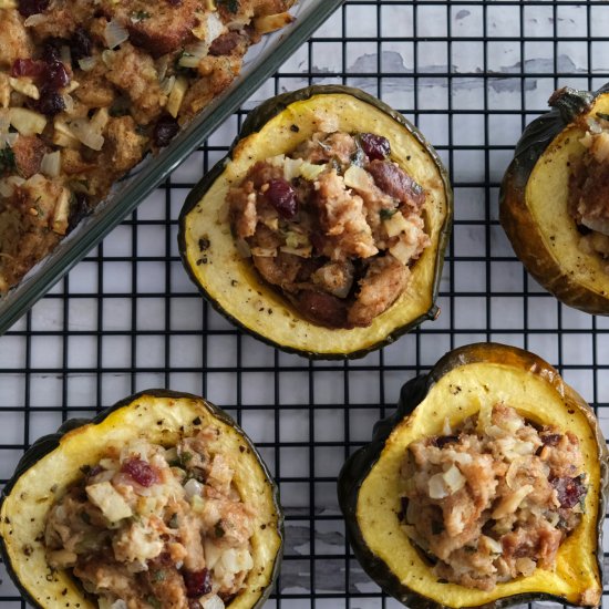
<instances>
[{"instance_id":1,"label":"bottom-right squash shell, yellow flesh and skin without the stuffing","mask_svg":"<svg viewBox=\"0 0 609 609\"><path fill-rule=\"evenodd\" d=\"M484 591L438 580L425 556L402 531L400 467L415 440L455 429L484 403L502 400L534 424L575 433L589 476L585 514L558 550L556 570ZM481 343L444 355L432 371L407 382L395 414L376 424L370 444L344 464L338 485L355 557L388 593L413 609L505 607L536 600L596 606L602 592L602 524L608 491L608 452L586 402L538 357L502 344Z\"/></svg>"}]
</instances>

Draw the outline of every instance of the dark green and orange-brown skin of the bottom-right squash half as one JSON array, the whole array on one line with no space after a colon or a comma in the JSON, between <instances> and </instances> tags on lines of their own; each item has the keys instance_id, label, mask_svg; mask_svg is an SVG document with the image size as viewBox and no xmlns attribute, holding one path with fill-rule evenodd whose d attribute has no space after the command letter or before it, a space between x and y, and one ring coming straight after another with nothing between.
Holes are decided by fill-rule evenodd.
<instances>
[{"instance_id":1,"label":"dark green and orange-brown skin of the bottom-right squash half","mask_svg":"<svg viewBox=\"0 0 609 609\"><path fill-rule=\"evenodd\" d=\"M433 385L447 372L454 368L475 363L475 362L497 362L519 361L522 367L539 374L550 384L561 384L558 372L547 362L515 347L507 347L498 343L476 343L461 347L446 353L433 367L429 374L415 376L406 382L400 392L398 410L389 417L379 421L372 431L372 441L370 444L358 450L344 463L338 478L338 498L339 505L344 516L349 541L355 555L355 558L364 571L389 595L396 598L400 602L411 609L452 609L448 605L441 605L432 599L427 599L403 586L395 575L389 569L388 565L375 556L367 546L362 531L358 525L357 507L360 487L363 484L369 472L379 461L386 440L393 429L425 399ZM609 493L609 467L607 447L602 435L600 434L598 421L593 412L586 411L590 427L593 430L597 444L601 447L602 455L600 462L600 487L601 499L599 502L599 515L597 522L597 564L602 579L602 525L605 523L605 507L607 495ZM495 601L478 606L476 609L500 609L513 605L531 602L536 600L550 600L555 602L571 605L565 601L562 597L547 592L526 592L510 597L497 599Z\"/></svg>"}]
</instances>

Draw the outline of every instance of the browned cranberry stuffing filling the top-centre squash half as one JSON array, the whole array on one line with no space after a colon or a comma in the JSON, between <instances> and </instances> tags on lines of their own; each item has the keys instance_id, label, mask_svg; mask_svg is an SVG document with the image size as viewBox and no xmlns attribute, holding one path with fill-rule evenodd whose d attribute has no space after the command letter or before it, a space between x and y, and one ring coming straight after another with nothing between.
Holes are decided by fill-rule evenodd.
<instances>
[{"instance_id":1,"label":"browned cranberry stuffing filling the top-centre squash half","mask_svg":"<svg viewBox=\"0 0 609 609\"><path fill-rule=\"evenodd\" d=\"M425 192L376 134L316 133L229 190L237 248L313 323L367 327L430 246Z\"/></svg>"}]
</instances>

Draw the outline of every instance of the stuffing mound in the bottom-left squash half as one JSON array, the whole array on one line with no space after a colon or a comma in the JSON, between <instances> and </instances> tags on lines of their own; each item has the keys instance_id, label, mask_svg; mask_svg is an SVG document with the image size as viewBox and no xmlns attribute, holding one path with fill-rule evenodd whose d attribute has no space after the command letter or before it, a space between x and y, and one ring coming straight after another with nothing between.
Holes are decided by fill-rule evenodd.
<instances>
[{"instance_id":1,"label":"stuffing mound in the bottom-left squash half","mask_svg":"<svg viewBox=\"0 0 609 609\"><path fill-rule=\"evenodd\" d=\"M49 513L49 565L101 609L223 609L250 569L255 514L208 426L176 446L110 447Z\"/></svg>"}]
</instances>

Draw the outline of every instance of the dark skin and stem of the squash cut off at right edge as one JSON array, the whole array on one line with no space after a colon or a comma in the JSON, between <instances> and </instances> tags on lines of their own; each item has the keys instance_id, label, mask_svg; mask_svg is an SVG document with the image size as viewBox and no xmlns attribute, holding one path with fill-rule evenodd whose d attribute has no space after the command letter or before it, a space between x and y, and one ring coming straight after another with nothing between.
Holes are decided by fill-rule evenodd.
<instances>
[{"instance_id":1,"label":"dark skin and stem of the squash cut off at right edge","mask_svg":"<svg viewBox=\"0 0 609 609\"><path fill-rule=\"evenodd\" d=\"M525 189L535 164L554 138L587 112L596 97L608 92L609 83L593 93L570 87L556 91L548 101L553 110L535 118L523 132L499 189L499 221L527 271L558 300L591 314L609 314L609 296L574 283L560 266L548 258L526 209Z\"/></svg>"}]
</instances>

